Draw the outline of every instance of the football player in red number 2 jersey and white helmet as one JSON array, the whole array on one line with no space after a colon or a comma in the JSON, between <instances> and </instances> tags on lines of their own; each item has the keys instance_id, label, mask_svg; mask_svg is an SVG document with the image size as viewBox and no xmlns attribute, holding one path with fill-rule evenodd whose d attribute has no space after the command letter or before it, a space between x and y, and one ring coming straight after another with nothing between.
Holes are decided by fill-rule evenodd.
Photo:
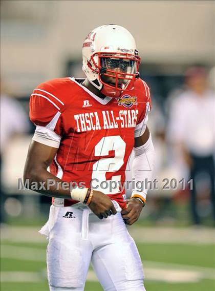
<instances>
[{"instance_id":1,"label":"football player in red number 2 jersey and white helmet","mask_svg":"<svg viewBox=\"0 0 215 291\"><path fill-rule=\"evenodd\" d=\"M104 290L143 291L141 259L126 224L139 218L147 192L135 186L126 200L123 182L132 150L133 181L152 179L149 88L139 78L135 40L121 26L94 29L82 56L87 78L44 82L30 99L36 130L24 179L44 182L37 191L53 197L40 230L49 238L50 290L83 290L92 262Z\"/></svg>"}]
</instances>

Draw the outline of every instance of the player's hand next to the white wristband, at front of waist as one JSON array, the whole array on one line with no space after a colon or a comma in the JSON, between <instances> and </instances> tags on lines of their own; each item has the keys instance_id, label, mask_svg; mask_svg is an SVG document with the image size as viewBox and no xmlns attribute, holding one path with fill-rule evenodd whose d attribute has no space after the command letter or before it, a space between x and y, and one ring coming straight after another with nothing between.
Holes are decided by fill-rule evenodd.
<instances>
[{"instance_id":1,"label":"player's hand next to the white wristband, at front of waist","mask_svg":"<svg viewBox=\"0 0 215 291\"><path fill-rule=\"evenodd\" d=\"M111 198L96 190L93 191L93 197L89 204L89 208L100 219L107 218L107 216L117 213Z\"/></svg>"}]
</instances>

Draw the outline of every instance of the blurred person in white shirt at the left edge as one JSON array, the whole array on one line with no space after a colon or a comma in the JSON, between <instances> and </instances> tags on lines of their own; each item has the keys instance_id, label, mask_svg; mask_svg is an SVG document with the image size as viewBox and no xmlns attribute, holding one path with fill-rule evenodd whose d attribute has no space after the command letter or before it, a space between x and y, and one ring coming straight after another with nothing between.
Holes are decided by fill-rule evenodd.
<instances>
[{"instance_id":1,"label":"blurred person in white shirt at the left edge","mask_svg":"<svg viewBox=\"0 0 215 291\"><path fill-rule=\"evenodd\" d=\"M1 84L1 156L0 166L2 171L2 165L4 162L4 155L6 154L7 147L11 138L17 134L27 133L30 129L28 116L20 103L14 98L8 96L5 92L6 89ZM15 150L15 149L14 149ZM11 165L14 167L14 165ZM2 175L1 175L2 177ZM1 216L0 222L5 222L4 215L4 202L5 202L5 191L4 183L1 179Z\"/></svg>"}]
</instances>

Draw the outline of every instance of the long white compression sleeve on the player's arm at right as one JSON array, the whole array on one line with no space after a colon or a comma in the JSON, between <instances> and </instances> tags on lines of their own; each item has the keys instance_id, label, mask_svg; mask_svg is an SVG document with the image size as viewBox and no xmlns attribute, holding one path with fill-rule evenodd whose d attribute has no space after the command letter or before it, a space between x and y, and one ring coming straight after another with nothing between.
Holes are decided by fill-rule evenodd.
<instances>
[{"instance_id":1,"label":"long white compression sleeve on the player's arm at right","mask_svg":"<svg viewBox=\"0 0 215 291\"><path fill-rule=\"evenodd\" d=\"M132 197L139 196L145 201L147 195L147 188L145 187L145 184L146 181L152 181L153 169L155 165L155 150L151 134L143 146L134 148L134 154L132 174L135 180L135 189L132 191ZM137 184L138 181L140 182ZM141 182L143 182L143 188L139 185Z\"/></svg>"}]
</instances>

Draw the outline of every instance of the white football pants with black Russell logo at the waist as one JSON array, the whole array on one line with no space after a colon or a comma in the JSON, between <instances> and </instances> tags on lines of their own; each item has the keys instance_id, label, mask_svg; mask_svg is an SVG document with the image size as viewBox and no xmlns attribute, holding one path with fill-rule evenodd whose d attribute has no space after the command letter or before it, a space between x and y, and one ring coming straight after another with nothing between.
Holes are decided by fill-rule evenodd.
<instances>
[{"instance_id":1,"label":"white football pants with black Russell logo at the waist","mask_svg":"<svg viewBox=\"0 0 215 291\"><path fill-rule=\"evenodd\" d=\"M51 205L40 230L49 237L47 269L50 291L82 291L90 262L105 291L145 291L136 244L113 201L116 215L100 220L89 207Z\"/></svg>"}]
</instances>

